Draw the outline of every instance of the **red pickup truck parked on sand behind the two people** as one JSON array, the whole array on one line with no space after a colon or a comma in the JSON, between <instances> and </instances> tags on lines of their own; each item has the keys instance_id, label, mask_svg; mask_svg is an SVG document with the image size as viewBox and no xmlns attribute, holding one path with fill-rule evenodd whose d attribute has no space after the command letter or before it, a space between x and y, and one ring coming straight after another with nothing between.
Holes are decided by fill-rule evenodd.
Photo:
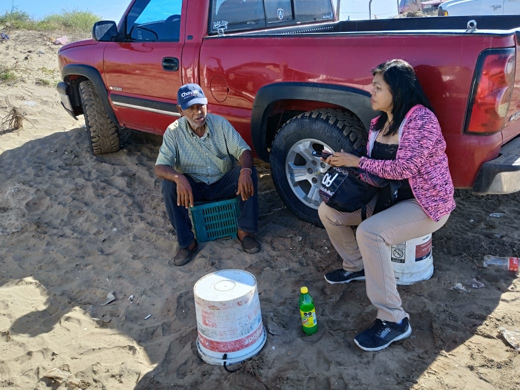
<instances>
[{"instance_id":1,"label":"red pickup truck parked on sand behind the two people","mask_svg":"<svg viewBox=\"0 0 520 390\"><path fill-rule=\"evenodd\" d=\"M365 145L370 69L403 58L417 71L447 141L454 184L520 190L520 28L516 16L337 21L330 0L133 0L118 25L59 50L63 107L83 114L95 154L119 130L162 134L176 92L199 83L271 164L288 208L319 224L326 171L313 150Z\"/></svg>"}]
</instances>

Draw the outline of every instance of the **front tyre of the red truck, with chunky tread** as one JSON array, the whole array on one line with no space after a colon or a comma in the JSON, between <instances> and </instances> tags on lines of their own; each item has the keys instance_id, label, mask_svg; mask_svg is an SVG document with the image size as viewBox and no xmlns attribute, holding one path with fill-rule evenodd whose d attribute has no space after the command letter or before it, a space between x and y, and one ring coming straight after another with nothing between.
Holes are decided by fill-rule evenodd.
<instances>
[{"instance_id":1,"label":"front tyre of the red truck, with chunky tread","mask_svg":"<svg viewBox=\"0 0 520 390\"><path fill-rule=\"evenodd\" d=\"M119 129L107 115L103 104L90 81L80 83L81 105L85 125L90 133L93 154L112 153L119 150Z\"/></svg>"}]
</instances>

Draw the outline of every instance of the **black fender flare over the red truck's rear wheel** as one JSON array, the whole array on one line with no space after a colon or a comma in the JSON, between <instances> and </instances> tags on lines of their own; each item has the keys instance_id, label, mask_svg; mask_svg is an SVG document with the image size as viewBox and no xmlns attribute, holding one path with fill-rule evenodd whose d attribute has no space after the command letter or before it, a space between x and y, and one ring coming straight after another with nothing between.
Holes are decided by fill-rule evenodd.
<instances>
[{"instance_id":1,"label":"black fender flare over the red truck's rear wheel","mask_svg":"<svg viewBox=\"0 0 520 390\"><path fill-rule=\"evenodd\" d=\"M308 82L283 82L264 85L258 90L251 112L251 139L258 157L269 161L266 126L268 107L279 100L311 100L344 107L353 112L367 129L376 112L370 93L353 87Z\"/></svg>"}]
</instances>

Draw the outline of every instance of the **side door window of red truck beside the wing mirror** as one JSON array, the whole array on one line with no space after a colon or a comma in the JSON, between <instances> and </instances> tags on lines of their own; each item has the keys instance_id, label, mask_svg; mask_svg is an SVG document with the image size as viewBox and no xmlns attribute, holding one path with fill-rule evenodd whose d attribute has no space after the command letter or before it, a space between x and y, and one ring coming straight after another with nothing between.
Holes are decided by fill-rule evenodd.
<instances>
[{"instance_id":1,"label":"side door window of red truck beside the wing mirror","mask_svg":"<svg viewBox=\"0 0 520 390\"><path fill-rule=\"evenodd\" d=\"M126 17L126 40L178 42L182 0L137 0Z\"/></svg>"}]
</instances>

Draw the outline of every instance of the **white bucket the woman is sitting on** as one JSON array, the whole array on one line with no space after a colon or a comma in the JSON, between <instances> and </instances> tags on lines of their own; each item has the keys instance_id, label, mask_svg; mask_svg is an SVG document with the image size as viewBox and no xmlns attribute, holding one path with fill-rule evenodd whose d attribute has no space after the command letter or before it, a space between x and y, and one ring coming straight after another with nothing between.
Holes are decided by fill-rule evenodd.
<instances>
[{"instance_id":1,"label":"white bucket the woman is sitting on","mask_svg":"<svg viewBox=\"0 0 520 390\"><path fill-rule=\"evenodd\" d=\"M431 234L394 244L390 252L397 284L412 284L432 277Z\"/></svg>"}]
</instances>

